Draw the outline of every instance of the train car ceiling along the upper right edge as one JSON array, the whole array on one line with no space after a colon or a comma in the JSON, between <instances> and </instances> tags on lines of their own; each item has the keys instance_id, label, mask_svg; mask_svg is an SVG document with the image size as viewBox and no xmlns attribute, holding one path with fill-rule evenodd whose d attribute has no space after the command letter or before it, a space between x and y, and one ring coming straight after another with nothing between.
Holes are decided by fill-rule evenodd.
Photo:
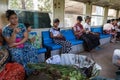
<instances>
[{"instance_id":1,"label":"train car ceiling along the upper right edge","mask_svg":"<svg viewBox=\"0 0 120 80\"><path fill-rule=\"evenodd\" d=\"M120 9L120 0L71 0L71 1L79 1L84 3L92 3L98 6L108 6L114 9Z\"/></svg>"}]
</instances>

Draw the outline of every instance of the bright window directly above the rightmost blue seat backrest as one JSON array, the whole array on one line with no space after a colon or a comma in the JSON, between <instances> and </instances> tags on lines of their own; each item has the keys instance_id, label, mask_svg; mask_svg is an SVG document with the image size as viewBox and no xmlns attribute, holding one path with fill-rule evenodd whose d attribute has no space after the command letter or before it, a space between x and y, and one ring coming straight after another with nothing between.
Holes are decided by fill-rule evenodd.
<instances>
[{"instance_id":1,"label":"bright window directly above the rightmost blue seat backrest","mask_svg":"<svg viewBox=\"0 0 120 80\"><path fill-rule=\"evenodd\" d=\"M91 26L103 25L104 8L100 6L92 6Z\"/></svg>"}]
</instances>

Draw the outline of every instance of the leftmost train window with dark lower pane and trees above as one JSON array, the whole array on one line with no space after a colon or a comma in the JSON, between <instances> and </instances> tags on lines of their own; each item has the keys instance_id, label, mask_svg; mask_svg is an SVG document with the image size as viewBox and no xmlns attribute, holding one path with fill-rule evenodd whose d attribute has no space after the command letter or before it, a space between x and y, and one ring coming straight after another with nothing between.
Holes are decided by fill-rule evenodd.
<instances>
[{"instance_id":1,"label":"leftmost train window with dark lower pane and trees above","mask_svg":"<svg viewBox=\"0 0 120 80\"><path fill-rule=\"evenodd\" d=\"M19 22L28 22L33 28L51 27L53 0L9 0L8 9L16 11Z\"/></svg>"}]
</instances>

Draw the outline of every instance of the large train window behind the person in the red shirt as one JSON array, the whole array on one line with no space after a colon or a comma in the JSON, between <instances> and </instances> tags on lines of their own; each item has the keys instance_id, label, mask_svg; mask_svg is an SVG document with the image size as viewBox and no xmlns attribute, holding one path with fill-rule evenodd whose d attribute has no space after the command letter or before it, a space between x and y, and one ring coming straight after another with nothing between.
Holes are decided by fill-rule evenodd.
<instances>
[{"instance_id":1,"label":"large train window behind the person in the red shirt","mask_svg":"<svg viewBox=\"0 0 120 80\"><path fill-rule=\"evenodd\" d=\"M85 9L86 5L82 2L65 0L65 27L73 27L77 16L82 16L84 20Z\"/></svg>"}]
</instances>

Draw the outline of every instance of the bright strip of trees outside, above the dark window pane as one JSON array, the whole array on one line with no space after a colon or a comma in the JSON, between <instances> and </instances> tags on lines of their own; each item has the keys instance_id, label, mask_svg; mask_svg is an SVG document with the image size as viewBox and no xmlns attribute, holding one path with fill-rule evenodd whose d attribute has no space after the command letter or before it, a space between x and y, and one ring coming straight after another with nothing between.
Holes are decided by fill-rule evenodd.
<instances>
[{"instance_id":1,"label":"bright strip of trees outside, above the dark window pane","mask_svg":"<svg viewBox=\"0 0 120 80\"><path fill-rule=\"evenodd\" d=\"M9 0L9 9L52 12L52 0Z\"/></svg>"}]
</instances>

